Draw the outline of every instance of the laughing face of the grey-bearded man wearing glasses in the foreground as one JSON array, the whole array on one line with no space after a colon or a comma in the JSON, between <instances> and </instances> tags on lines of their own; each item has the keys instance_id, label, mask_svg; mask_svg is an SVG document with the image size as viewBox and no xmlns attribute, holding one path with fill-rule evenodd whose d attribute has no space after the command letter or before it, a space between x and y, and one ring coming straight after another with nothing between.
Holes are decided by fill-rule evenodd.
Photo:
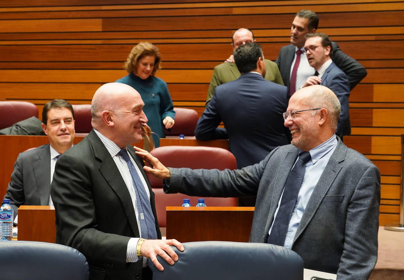
<instances>
[{"instance_id":1,"label":"laughing face of the grey-bearded man wearing glasses in the foreground","mask_svg":"<svg viewBox=\"0 0 404 280\"><path fill-rule=\"evenodd\" d=\"M303 103L304 98L307 98L307 95L296 93L292 95L286 112L291 110L300 111L311 109ZM293 120L291 120L289 116L284 122L284 125L289 128L292 134L292 145L303 151L309 151L322 143L317 143L317 139L319 138L319 127L317 125L318 115L313 116L313 112L316 111L296 113Z\"/></svg>"}]
</instances>

